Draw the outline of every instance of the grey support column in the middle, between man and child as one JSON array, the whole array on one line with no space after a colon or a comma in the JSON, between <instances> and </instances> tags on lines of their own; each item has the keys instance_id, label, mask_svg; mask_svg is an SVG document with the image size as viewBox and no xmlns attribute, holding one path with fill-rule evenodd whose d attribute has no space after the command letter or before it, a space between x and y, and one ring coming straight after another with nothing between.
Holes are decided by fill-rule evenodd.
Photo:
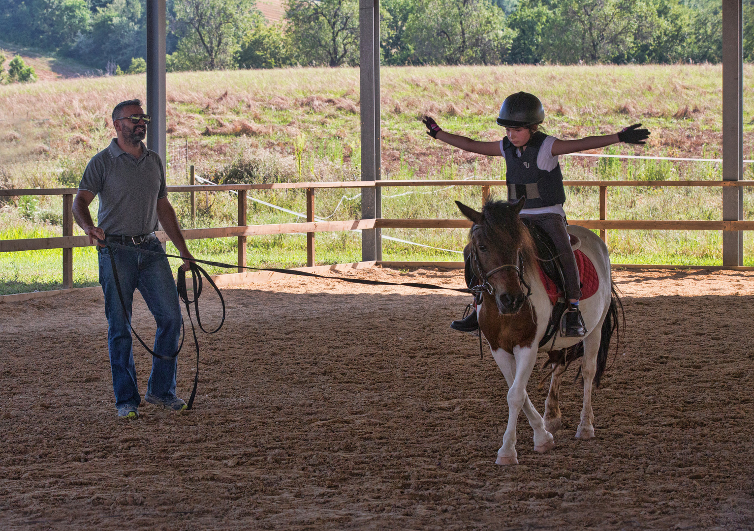
<instances>
[{"instance_id":1,"label":"grey support column in the middle, between man and child","mask_svg":"<svg viewBox=\"0 0 754 531\"><path fill-rule=\"evenodd\" d=\"M361 180L376 179L375 153L375 0L359 0L359 70L361 99ZM361 189L361 218L373 219L375 189ZM361 260L377 259L376 230L361 231Z\"/></svg>"}]
</instances>

